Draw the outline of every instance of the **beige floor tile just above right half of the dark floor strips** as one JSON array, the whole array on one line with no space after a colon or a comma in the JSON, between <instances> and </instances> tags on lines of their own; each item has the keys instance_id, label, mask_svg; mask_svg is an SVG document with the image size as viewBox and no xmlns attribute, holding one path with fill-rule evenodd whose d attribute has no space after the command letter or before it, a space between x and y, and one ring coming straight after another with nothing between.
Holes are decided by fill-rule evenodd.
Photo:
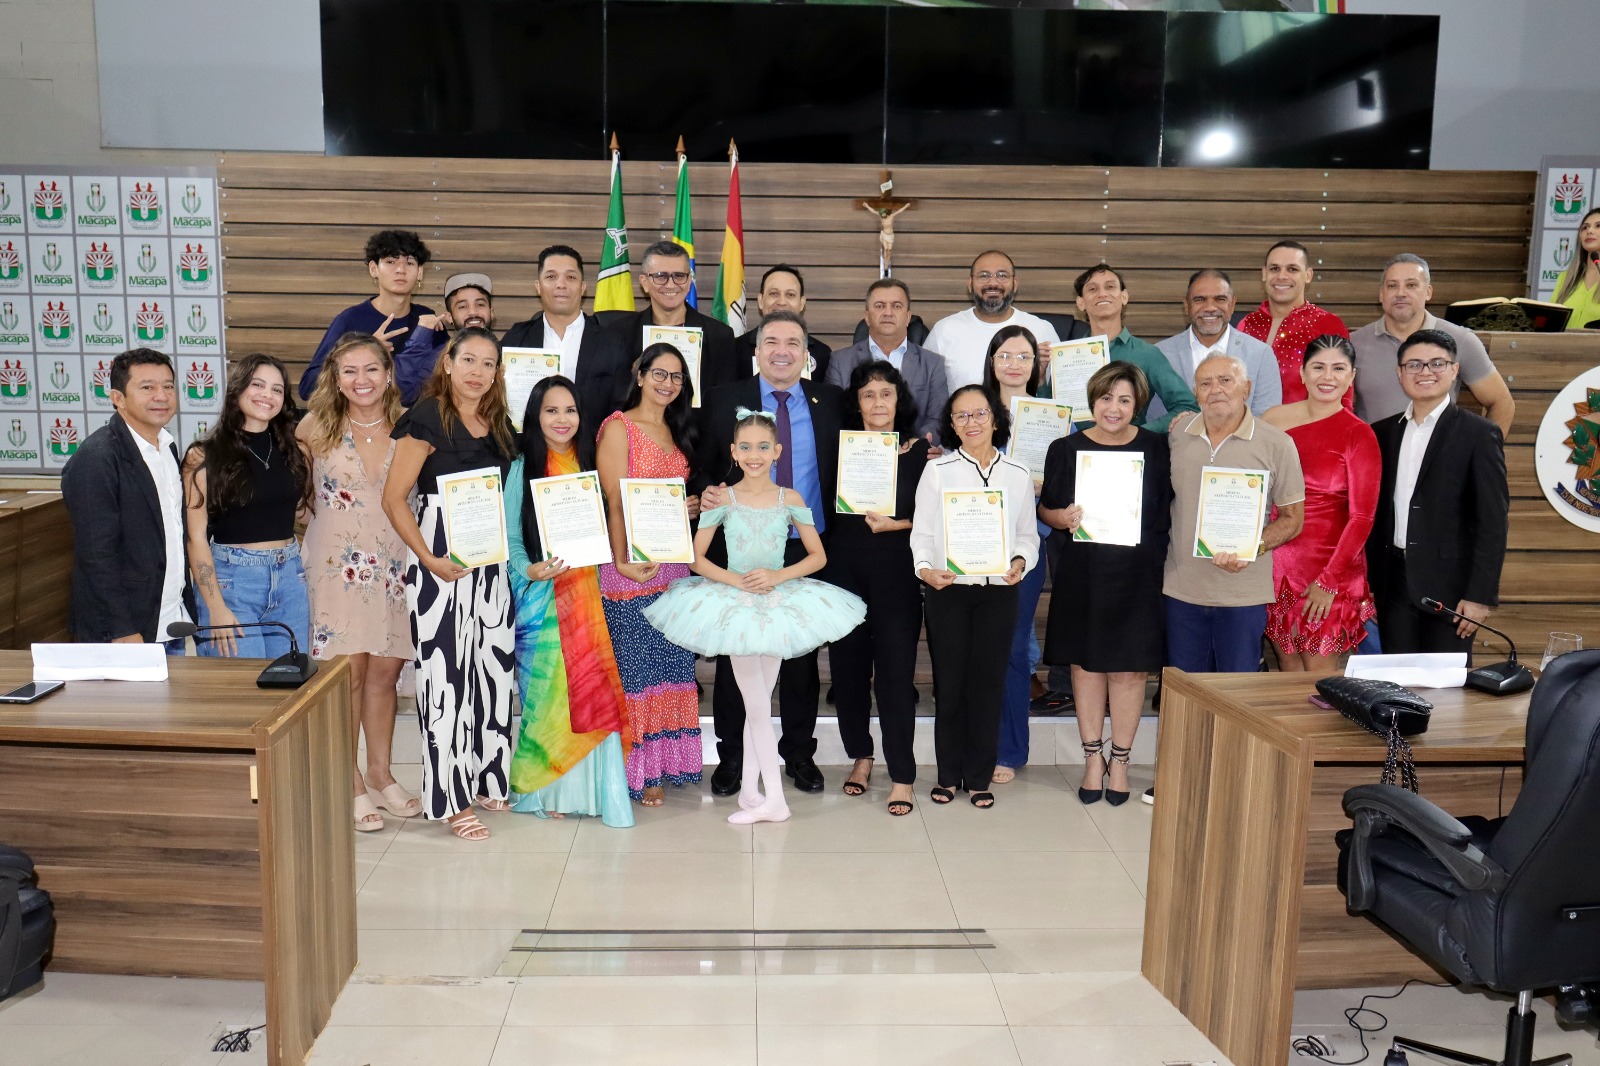
<instances>
[{"instance_id":1,"label":"beige floor tile just above right half of the dark floor strips","mask_svg":"<svg viewBox=\"0 0 1600 1066\"><path fill-rule=\"evenodd\" d=\"M952 928L933 855L755 856L755 928Z\"/></svg>"}]
</instances>

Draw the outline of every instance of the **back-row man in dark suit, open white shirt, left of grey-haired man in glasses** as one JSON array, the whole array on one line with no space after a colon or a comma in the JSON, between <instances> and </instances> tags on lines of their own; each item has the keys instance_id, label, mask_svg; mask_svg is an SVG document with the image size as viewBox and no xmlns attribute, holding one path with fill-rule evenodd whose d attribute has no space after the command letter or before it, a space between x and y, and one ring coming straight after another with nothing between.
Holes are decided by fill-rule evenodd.
<instances>
[{"instance_id":1,"label":"back-row man in dark suit, open white shirt, left of grey-haired man in glasses","mask_svg":"<svg viewBox=\"0 0 1600 1066\"><path fill-rule=\"evenodd\" d=\"M539 314L506 331L506 347L538 347L562 354L562 375L578 386L578 403L590 426L622 405L629 362L618 336L584 314L584 258L576 248L550 245L539 253L534 293ZM638 352L635 352L637 357ZM522 415L522 411L517 411Z\"/></svg>"}]
</instances>

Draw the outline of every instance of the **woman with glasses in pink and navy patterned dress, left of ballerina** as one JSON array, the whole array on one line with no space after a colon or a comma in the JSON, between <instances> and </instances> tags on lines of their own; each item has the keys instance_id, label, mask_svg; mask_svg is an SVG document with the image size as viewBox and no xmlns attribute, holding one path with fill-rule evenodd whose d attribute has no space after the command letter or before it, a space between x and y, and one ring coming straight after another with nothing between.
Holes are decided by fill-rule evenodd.
<instances>
[{"instance_id":1,"label":"woman with glasses in pink and navy patterned dress, left of ballerina","mask_svg":"<svg viewBox=\"0 0 1600 1066\"><path fill-rule=\"evenodd\" d=\"M627 559L622 503L624 477L682 477L694 453L690 410L694 386L683 357L670 344L651 344L638 357L622 410L600 424L600 487L610 507L611 551ZM690 498L690 517L699 498ZM699 736L699 695L694 690L694 653L662 637L645 621L645 608L678 578L683 563L622 562L600 567L600 595L611 629L616 664L622 674L632 751L627 755L627 792L645 807L661 807L666 784L696 784L704 755Z\"/></svg>"}]
</instances>

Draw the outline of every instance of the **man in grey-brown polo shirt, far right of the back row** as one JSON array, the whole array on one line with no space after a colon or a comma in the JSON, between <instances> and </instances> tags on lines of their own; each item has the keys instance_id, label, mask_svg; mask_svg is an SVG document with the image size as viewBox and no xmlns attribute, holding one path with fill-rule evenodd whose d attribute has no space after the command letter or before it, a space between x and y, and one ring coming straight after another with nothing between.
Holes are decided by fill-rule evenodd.
<instances>
[{"instance_id":1,"label":"man in grey-brown polo shirt, far right of the back row","mask_svg":"<svg viewBox=\"0 0 1600 1066\"><path fill-rule=\"evenodd\" d=\"M1432 298L1434 280L1427 259L1402 251L1384 264L1384 279L1378 285L1378 303L1384 314L1350 335L1350 344L1355 346L1355 413L1362 421L1378 423L1403 411L1406 394L1389 368L1395 365L1402 341L1418 330L1438 330L1456 341L1461 363L1451 384L1451 397L1459 395L1466 384L1472 399L1483 405L1483 415L1499 426L1504 437L1510 432L1510 419L1517 411L1506 379L1494 370L1477 333L1429 314L1427 301Z\"/></svg>"}]
</instances>

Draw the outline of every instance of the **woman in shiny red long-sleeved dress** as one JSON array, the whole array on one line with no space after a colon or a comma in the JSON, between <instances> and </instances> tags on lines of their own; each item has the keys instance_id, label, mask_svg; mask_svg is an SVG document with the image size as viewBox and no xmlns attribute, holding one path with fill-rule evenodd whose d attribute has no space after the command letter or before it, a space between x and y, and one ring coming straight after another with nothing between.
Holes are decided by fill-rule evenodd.
<instances>
[{"instance_id":1,"label":"woman in shiny red long-sleeved dress","mask_svg":"<svg viewBox=\"0 0 1600 1066\"><path fill-rule=\"evenodd\" d=\"M1349 339L1328 333L1307 344L1301 379L1304 400L1261 416L1294 440L1306 472L1306 528L1272 552L1267 637L1282 669L1331 674L1376 613L1365 549L1382 458L1371 426L1344 407L1355 384Z\"/></svg>"}]
</instances>

